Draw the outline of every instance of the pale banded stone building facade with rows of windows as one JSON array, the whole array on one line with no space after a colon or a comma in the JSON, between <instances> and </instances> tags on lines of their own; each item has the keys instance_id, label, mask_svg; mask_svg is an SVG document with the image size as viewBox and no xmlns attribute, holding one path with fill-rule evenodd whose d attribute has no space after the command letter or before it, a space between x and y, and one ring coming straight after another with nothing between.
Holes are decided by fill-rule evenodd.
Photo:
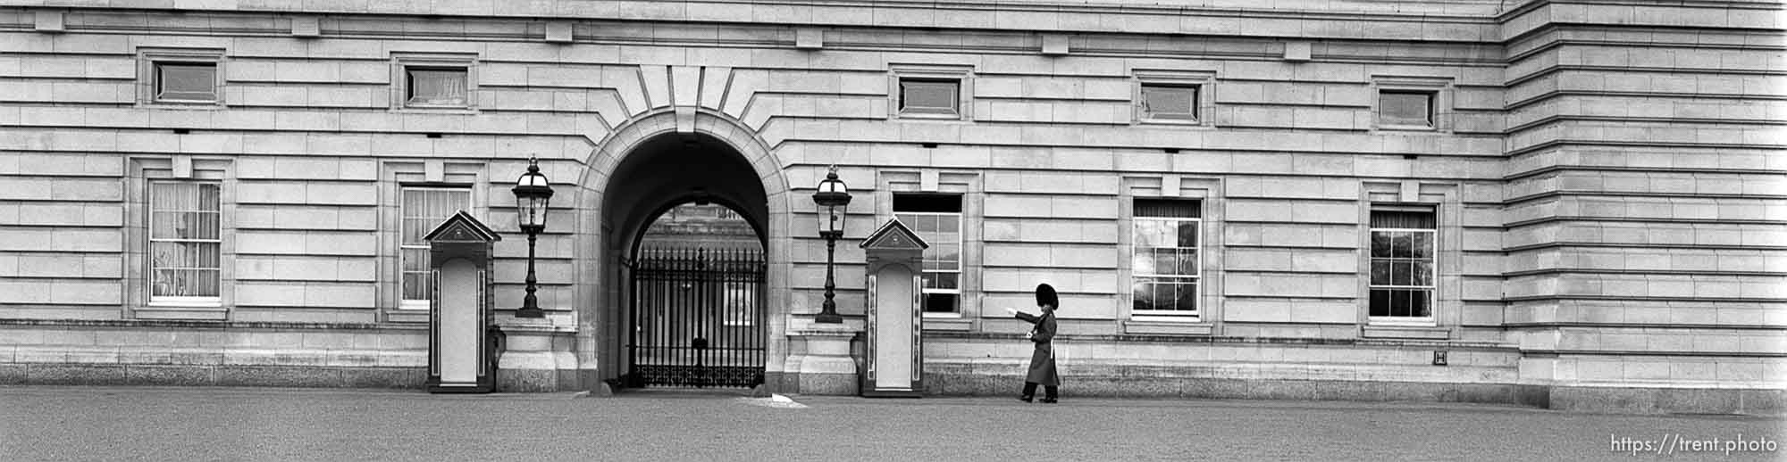
<instances>
[{"instance_id":1,"label":"pale banded stone building facade with rows of windows","mask_svg":"<svg viewBox=\"0 0 1787 462\"><path fill-rule=\"evenodd\" d=\"M852 391L810 348L836 166L845 330L852 239L942 244L935 394L1011 392L1047 282L1067 396L1780 408L1780 12L0 0L0 382L420 387L415 230L516 234L538 157L506 389L625 375L627 252L701 200L761 232L765 387Z\"/></svg>"}]
</instances>

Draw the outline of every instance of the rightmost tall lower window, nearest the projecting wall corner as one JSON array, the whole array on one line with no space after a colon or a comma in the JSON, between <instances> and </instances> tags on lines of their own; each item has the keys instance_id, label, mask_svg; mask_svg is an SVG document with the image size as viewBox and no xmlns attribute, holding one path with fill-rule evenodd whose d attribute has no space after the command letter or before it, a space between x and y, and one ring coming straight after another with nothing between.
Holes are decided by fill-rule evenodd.
<instances>
[{"instance_id":1,"label":"rightmost tall lower window, nearest the projecting wall corner","mask_svg":"<svg viewBox=\"0 0 1787 462\"><path fill-rule=\"evenodd\" d=\"M1371 210L1371 321L1433 323L1433 210Z\"/></svg>"}]
</instances>

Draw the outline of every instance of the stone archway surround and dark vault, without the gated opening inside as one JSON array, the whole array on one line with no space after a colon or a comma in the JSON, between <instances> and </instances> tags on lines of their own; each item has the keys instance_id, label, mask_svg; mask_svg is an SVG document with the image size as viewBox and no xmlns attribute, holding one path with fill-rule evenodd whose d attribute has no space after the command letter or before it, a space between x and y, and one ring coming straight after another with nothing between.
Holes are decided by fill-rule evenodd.
<instances>
[{"instance_id":1,"label":"stone archway surround and dark vault, without the gated opening inside","mask_svg":"<svg viewBox=\"0 0 1787 462\"><path fill-rule=\"evenodd\" d=\"M597 143L579 178L577 362L583 384L624 373L625 268L634 239L665 207L727 203L759 232L767 259L767 375L776 387L788 342L788 182L768 146L718 112L663 109L617 127Z\"/></svg>"}]
</instances>

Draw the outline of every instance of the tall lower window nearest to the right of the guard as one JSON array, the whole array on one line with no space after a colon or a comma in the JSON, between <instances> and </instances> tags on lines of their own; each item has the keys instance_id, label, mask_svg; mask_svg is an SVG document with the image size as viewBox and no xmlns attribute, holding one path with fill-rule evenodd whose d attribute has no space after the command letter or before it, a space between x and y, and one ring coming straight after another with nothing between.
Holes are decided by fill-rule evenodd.
<instances>
[{"instance_id":1,"label":"tall lower window nearest to the right of the guard","mask_svg":"<svg viewBox=\"0 0 1787 462\"><path fill-rule=\"evenodd\" d=\"M1201 205L1197 200L1135 200L1133 314L1197 316Z\"/></svg>"}]
</instances>

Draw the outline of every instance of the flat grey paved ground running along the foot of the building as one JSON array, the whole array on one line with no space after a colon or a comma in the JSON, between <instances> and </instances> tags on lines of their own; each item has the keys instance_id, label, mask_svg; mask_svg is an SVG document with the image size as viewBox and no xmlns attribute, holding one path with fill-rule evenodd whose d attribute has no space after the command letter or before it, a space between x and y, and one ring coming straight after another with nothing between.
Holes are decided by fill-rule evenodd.
<instances>
[{"instance_id":1,"label":"flat grey paved ground running along the foot of the building","mask_svg":"<svg viewBox=\"0 0 1787 462\"><path fill-rule=\"evenodd\" d=\"M0 460L1778 460L1782 430L1451 403L0 387ZM1758 451L1726 455L1737 437Z\"/></svg>"}]
</instances>

